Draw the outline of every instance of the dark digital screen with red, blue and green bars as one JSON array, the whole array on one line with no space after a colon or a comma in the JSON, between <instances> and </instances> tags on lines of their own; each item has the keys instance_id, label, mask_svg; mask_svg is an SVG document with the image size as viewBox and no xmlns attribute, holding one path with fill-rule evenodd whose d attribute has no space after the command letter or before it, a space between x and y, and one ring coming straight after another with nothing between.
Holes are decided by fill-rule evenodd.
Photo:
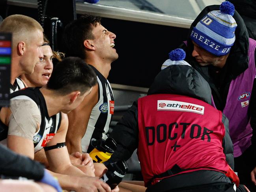
<instances>
[{"instance_id":1,"label":"dark digital screen with red, blue and green bars","mask_svg":"<svg viewBox=\"0 0 256 192\"><path fill-rule=\"evenodd\" d=\"M11 34L0 32L0 106L9 106Z\"/></svg>"}]
</instances>

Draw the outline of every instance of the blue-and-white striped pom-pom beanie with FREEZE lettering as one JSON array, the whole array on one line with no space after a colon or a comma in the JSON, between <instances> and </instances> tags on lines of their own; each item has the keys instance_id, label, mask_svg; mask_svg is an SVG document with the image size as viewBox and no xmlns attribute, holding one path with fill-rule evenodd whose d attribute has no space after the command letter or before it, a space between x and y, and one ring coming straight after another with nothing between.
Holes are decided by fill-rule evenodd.
<instances>
[{"instance_id":1,"label":"blue-and-white striped pom-pom beanie with FREEZE lettering","mask_svg":"<svg viewBox=\"0 0 256 192\"><path fill-rule=\"evenodd\" d=\"M220 10L210 11L196 24L190 35L191 40L216 56L228 54L235 42L237 24L232 17L234 13L232 3L222 2Z\"/></svg>"}]
</instances>

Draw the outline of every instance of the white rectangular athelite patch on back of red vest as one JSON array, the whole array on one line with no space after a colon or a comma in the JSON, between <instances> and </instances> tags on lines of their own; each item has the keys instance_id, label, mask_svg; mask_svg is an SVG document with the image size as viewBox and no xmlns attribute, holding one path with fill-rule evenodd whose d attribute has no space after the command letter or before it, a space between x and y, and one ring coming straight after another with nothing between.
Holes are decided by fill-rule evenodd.
<instances>
[{"instance_id":1,"label":"white rectangular athelite patch on back of red vest","mask_svg":"<svg viewBox=\"0 0 256 192\"><path fill-rule=\"evenodd\" d=\"M204 115L204 106L181 101L157 100L158 111L184 111Z\"/></svg>"}]
</instances>

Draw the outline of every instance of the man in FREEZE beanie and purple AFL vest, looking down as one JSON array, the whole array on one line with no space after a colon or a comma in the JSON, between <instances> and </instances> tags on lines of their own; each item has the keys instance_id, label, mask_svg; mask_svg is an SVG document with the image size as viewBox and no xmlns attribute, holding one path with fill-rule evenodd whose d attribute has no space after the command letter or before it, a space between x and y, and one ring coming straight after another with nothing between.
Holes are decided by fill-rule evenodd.
<instances>
[{"instance_id":1,"label":"man in FREEZE beanie and purple AFL vest, looking down","mask_svg":"<svg viewBox=\"0 0 256 192\"><path fill-rule=\"evenodd\" d=\"M229 119L234 170L251 191L256 191L255 47L228 1L206 7L191 24L187 45L180 46L209 83L216 108Z\"/></svg>"}]
</instances>

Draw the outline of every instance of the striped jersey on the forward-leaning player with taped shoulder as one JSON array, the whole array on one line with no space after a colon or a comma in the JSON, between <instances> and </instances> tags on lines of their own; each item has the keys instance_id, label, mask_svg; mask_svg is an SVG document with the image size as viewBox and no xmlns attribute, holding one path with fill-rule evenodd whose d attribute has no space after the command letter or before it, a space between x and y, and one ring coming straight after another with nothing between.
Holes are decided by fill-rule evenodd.
<instances>
[{"instance_id":1,"label":"striped jersey on the forward-leaning player with taped shoulder","mask_svg":"<svg viewBox=\"0 0 256 192\"><path fill-rule=\"evenodd\" d=\"M11 100L26 99L34 101L41 113L41 124L39 130L34 134L34 151L41 150L53 138L61 124L61 113L49 117L45 98L39 88L26 88L11 95Z\"/></svg>"}]
</instances>

